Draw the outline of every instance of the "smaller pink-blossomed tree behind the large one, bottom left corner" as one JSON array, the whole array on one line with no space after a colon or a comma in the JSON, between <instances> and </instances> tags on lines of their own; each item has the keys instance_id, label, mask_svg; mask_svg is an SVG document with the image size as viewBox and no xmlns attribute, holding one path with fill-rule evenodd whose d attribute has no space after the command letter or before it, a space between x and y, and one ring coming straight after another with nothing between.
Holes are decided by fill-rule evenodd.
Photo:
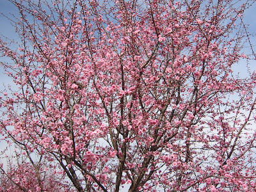
<instances>
[{"instance_id":1,"label":"smaller pink-blossomed tree behind the large one, bottom left corner","mask_svg":"<svg viewBox=\"0 0 256 192\"><path fill-rule=\"evenodd\" d=\"M63 172L56 172L51 166L42 164L12 163L7 170L0 168L1 191L74 191L72 186L63 182Z\"/></svg>"}]
</instances>

